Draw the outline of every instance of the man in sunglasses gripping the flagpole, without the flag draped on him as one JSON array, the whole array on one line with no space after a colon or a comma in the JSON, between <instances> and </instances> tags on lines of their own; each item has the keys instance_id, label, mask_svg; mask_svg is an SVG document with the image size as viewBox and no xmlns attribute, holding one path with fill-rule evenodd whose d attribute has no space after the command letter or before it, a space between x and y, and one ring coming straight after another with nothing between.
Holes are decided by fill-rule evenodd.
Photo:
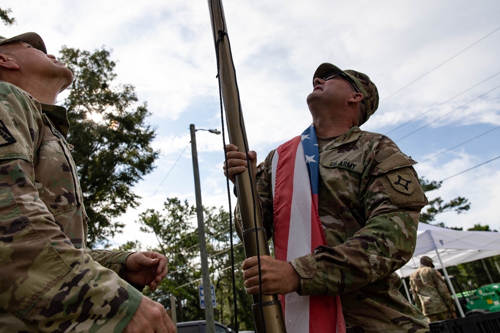
<instances>
[{"instance_id":1,"label":"man in sunglasses gripping the flagpole, without the flag draped on him","mask_svg":"<svg viewBox=\"0 0 500 333\"><path fill-rule=\"evenodd\" d=\"M323 63L313 87L307 104L319 146L318 214L327 246L289 262L262 256L262 292L340 295L347 332L426 332L427 320L398 291L394 273L413 254L419 213L428 203L416 162L387 136L359 129L378 106L368 76ZM234 183L246 155L232 144L226 149L224 173ZM257 167L255 152L248 152L268 236L274 236L274 153ZM241 228L238 207L236 221ZM259 292L256 265L256 257L242 265L250 294Z\"/></svg>"}]
</instances>

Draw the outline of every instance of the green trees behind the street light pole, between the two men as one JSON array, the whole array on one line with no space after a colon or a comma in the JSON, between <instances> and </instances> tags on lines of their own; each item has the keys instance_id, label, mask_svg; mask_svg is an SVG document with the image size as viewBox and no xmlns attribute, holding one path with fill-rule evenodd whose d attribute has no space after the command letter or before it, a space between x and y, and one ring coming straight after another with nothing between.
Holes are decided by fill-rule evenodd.
<instances>
[{"instance_id":1,"label":"green trees behind the street light pole, between the two men","mask_svg":"<svg viewBox=\"0 0 500 333\"><path fill-rule=\"evenodd\" d=\"M222 208L203 207L210 280L215 287L215 320L235 328L231 273L229 214ZM187 201L168 198L161 211L148 209L140 215L141 230L153 233L158 243L150 249L168 259L168 275L149 297L170 307L170 294L175 296L177 321L204 319L199 307L198 285L201 265L196 210ZM233 232L236 301L239 329L252 329L252 298L244 291L241 262L244 248ZM134 245L134 244L129 244Z\"/></svg>"}]
</instances>

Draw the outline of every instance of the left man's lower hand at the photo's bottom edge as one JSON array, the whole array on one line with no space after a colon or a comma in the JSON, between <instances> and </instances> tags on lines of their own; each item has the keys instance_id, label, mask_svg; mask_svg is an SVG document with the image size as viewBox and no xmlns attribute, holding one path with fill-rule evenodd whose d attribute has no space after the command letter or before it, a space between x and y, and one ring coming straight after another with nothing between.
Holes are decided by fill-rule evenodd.
<instances>
[{"instance_id":1,"label":"left man's lower hand at the photo's bottom edge","mask_svg":"<svg viewBox=\"0 0 500 333\"><path fill-rule=\"evenodd\" d=\"M175 333L175 325L160 303L142 296L123 333Z\"/></svg>"}]
</instances>

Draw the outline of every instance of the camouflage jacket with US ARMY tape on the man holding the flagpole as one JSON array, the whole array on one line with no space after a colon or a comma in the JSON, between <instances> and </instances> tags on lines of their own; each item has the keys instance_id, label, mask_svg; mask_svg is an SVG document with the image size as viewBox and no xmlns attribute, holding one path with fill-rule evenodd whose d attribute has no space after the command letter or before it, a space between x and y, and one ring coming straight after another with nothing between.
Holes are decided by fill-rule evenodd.
<instances>
[{"instance_id":1,"label":"camouflage jacket with US ARMY tape on the man holding the flagpole","mask_svg":"<svg viewBox=\"0 0 500 333\"><path fill-rule=\"evenodd\" d=\"M268 236L274 151L256 172ZM300 275L299 294L340 295L347 332L429 329L398 291L394 273L413 254L418 216L427 204L415 163L388 137L358 127L320 145L318 213L328 246L290 262ZM236 220L238 215L237 209Z\"/></svg>"}]
</instances>

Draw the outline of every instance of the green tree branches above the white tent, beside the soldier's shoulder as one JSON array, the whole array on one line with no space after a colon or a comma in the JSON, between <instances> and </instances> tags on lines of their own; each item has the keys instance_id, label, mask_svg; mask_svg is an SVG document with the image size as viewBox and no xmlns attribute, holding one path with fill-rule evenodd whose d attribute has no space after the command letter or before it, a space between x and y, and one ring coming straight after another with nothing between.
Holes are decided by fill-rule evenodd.
<instances>
[{"instance_id":1,"label":"green tree branches above the white tent, beside the soldier's shoulder","mask_svg":"<svg viewBox=\"0 0 500 333\"><path fill-rule=\"evenodd\" d=\"M425 178L420 178L420 186L425 193L441 187L440 181L428 181ZM468 199L457 196L454 199L444 202L441 197L436 197L429 200L429 207L422 209L420 213L420 222L430 223L435 220L437 214L454 210L457 214L467 211L470 208ZM437 223L444 226L443 223Z\"/></svg>"}]
</instances>

